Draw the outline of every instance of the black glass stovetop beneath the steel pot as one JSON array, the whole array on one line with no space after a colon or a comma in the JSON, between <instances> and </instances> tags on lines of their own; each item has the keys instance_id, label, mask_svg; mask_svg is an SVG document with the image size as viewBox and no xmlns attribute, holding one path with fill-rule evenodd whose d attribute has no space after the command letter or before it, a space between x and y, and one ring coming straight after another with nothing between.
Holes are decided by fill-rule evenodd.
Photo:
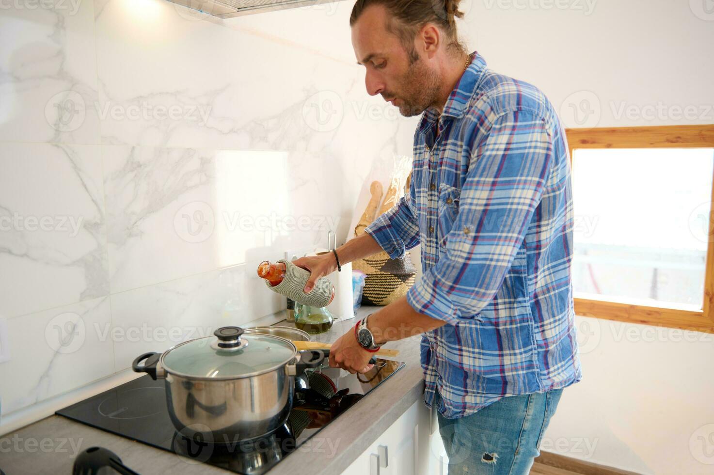
<instances>
[{"instance_id":1,"label":"black glass stovetop beneath the steel pot","mask_svg":"<svg viewBox=\"0 0 714 475\"><path fill-rule=\"evenodd\" d=\"M250 441L209 444L178 433L166 409L165 381L154 381L149 375L60 409L56 414L174 452L183 456L181 460L186 463L206 463L237 474L259 475L298 447L316 454L333 454L336 449L333 441L313 436L402 366L398 361L377 359L366 374L349 374L333 368L306 371L306 377L296 379L293 409L286 424L273 434Z\"/></svg>"}]
</instances>

